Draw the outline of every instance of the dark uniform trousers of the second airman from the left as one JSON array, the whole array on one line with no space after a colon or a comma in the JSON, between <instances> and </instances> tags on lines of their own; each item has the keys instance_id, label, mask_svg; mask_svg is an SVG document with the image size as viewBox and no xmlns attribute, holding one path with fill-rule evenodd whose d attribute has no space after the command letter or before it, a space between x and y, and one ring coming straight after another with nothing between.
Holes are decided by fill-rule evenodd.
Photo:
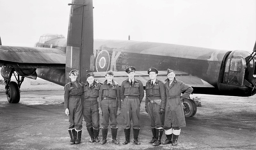
<instances>
[{"instance_id":1,"label":"dark uniform trousers of the second airman from the left","mask_svg":"<svg viewBox=\"0 0 256 150\"><path fill-rule=\"evenodd\" d=\"M84 100L83 116L87 128L90 128L92 126L94 129L100 128L100 114L98 108L98 101Z\"/></svg>"}]
</instances>

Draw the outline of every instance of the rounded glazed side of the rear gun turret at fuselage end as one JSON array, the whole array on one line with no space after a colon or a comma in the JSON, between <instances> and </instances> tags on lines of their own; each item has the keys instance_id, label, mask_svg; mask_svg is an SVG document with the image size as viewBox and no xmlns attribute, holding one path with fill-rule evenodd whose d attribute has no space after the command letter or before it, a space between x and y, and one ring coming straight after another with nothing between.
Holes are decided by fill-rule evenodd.
<instances>
[{"instance_id":1,"label":"rounded glazed side of the rear gun turret at fuselage end","mask_svg":"<svg viewBox=\"0 0 256 150\"><path fill-rule=\"evenodd\" d=\"M246 62L240 52L233 51L228 55L225 62L223 83L243 86Z\"/></svg>"}]
</instances>

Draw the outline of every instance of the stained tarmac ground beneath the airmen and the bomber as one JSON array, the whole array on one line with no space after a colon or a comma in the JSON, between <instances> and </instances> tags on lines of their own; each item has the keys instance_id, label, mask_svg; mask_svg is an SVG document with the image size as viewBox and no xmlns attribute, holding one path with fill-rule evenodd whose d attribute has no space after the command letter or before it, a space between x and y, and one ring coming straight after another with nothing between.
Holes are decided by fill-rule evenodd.
<instances>
[{"instance_id":1,"label":"stained tarmac ground beneath the airmen and the bomber","mask_svg":"<svg viewBox=\"0 0 256 150\"><path fill-rule=\"evenodd\" d=\"M27 87L27 86L25 86ZM144 110L145 98L140 110L141 145L135 145L131 131L131 142L124 142L123 109L117 117L117 139L112 143L108 131L107 143L90 143L89 134L83 121L80 144L69 144L68 116L64 110L64 88L55 84L30 85L21 87L18 104L10 104L3 86L0 86L0 150L255 150L256 149L256 96L215 96L193 94L201 98L202 107L197 107L194 117L186 118L186 127L181 128L178 146L152 146L148 115ZM122 105L123 106L123 105ZM100 122L102 117L100 117ZM100 131L99 138L102 138ZM162 142L166 139L162 136Z\"/></svg>"}]
</instances>

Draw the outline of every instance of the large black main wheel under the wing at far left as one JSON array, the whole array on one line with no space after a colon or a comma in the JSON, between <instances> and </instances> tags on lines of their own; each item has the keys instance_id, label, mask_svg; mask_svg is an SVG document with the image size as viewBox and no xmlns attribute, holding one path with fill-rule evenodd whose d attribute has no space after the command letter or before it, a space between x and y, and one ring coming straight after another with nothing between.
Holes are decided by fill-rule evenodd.
<instances>
[{"instance_id":1,"label":"large black main wheel under the wing at far left","mask_svg":"<svg viewBox=\"0 0 256 150\"><path fill-rule=\"evenodd\" d=\"M7 88L7 100L9 103L19 103L20 102L20 88L18 84L14 81L9 83Z\"/></svg>"}]
</instances>

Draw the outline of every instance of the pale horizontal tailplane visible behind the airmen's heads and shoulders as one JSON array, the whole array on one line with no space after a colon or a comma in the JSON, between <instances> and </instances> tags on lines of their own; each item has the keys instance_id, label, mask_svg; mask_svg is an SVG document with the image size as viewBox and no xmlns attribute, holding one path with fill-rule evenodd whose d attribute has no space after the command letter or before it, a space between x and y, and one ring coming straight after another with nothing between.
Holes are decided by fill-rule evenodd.
<instances>
[{"instance_id":1,"label":"pale horizontal tailplane visible behind the airmen's heads and shoulders","mask_svg":"<svg viewBox=\"0 0 256 150\"><path fill-rule=\"evenodd\" d=\"M93 73L95 76L94 78L98 80L100 83L103 83L106 78L105 74L106 72L94 72ZM214 88L210 83L196 77L196 76L191 76L188 73L181 72L181 71L175 71L175 78L177 80L180 80L184 82L185 84L188 84L191 87L198 87L198 88ZM118 71L114 72L114 80L121 85L124 80L128 78L127 74L125 71ZM143 86L146 86L146 82L150 79L148 76L147 71L135 71L135 78L140 80L143 83ZM167 79L166 71L158 71L157 74L157 79L159 81L164 82L164 80ZM165 82L164 82L165 83Z\"/></svg>"}]
</instances>

